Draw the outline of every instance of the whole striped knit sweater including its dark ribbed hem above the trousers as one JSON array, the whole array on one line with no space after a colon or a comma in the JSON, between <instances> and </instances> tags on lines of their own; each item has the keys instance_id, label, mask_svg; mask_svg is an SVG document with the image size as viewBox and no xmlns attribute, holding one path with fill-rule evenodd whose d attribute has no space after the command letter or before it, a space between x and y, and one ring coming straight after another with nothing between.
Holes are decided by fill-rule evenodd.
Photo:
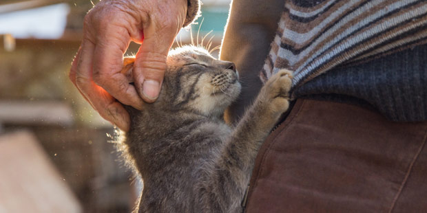
<instances>
[{"instance_id":1,"label":"whole striped knit sweater including its dark ribbed hem above the trousers","mask_svg":"<svg viewBox=\"0 0 427 213\"><path fill-rule=\"evenodd\" d=\"M426 0L284 1L263 82L290 69L293 98L333 95L390 120L427 120Z\"/></svg>"}]
</instances>

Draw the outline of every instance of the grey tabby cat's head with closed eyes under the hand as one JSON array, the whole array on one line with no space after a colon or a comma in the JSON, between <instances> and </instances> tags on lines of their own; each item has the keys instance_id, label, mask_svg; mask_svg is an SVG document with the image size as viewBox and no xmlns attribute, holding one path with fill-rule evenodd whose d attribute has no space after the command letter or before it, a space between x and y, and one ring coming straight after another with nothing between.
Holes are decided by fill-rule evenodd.
<instances>
[{"instance_id":1,"label":"grey tabby cat's head with closed eyes under the hand","mask_svg":"<svg viewBox=\"0 0 427 213\"><path fill-rule=\"evenodd\" d=\"M129 76L129 83L133 62L134 58L125 58L123 72ZM163 86L154 104L218 116L239 93L240 82L233 63L213 58L206 49L185 46L169 52Z\"/></svg>"}]
</instances>

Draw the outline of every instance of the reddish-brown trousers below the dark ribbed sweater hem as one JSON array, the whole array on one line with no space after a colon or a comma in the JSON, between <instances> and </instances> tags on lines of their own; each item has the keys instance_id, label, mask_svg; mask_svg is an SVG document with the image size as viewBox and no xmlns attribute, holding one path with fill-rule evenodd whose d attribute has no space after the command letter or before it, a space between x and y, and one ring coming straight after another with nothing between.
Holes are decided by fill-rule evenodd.
<instances>
[{"instance_id":1,"label":"reddish-brown trousers below the dark ribbed sweater hem","mask_svg":"<svg viewBox=\"0 0 427 213\"><path fill-rule=\"evenodd\" d=\"M427 122L298 100L262 145L246 212L427 212Z\"/></svg>"}]
</instances>

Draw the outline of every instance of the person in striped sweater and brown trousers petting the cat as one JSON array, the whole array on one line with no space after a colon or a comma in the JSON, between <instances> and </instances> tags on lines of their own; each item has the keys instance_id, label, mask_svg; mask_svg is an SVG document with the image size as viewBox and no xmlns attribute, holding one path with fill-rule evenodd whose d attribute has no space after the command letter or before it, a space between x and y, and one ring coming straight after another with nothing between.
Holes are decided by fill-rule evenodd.
<instances>
[{"instance_id":1,"label":"person in striped sweater and brown trousers petting the cat","mask_svg":"<svg viewBox=\"0 0 427 213\"><path fill-rule=\"evenodd\" d=\"M118 102L155 101L167 51L199 7L101 1L85 16L72 82L126 131ZM135 87L119 74L130 41L142 43ZM243 90L227 122L278 69L294 71L293 108L262 145L245 211L427 210L426 43L426 1L232 1L220 59L236 64Z\"/></svg>"}]
</instances>

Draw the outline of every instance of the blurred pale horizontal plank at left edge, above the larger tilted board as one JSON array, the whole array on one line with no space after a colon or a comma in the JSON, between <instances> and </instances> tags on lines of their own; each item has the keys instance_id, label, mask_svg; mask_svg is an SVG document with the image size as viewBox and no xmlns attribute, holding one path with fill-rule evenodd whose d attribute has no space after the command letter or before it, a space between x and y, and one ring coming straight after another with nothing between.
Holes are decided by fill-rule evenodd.
<instances>
[{"instance_id":1,"label":"blurred pale horizontal plank at left edge, above the larger tilted board","mask_svg":"<svg viewBox=\"0 0 427 213\"><path fill-rule=\"evenodd\" d=\"M70 126L74 122L69 104L56 101L0 100L0 123Z\"/></svg>"}]
</instances>

